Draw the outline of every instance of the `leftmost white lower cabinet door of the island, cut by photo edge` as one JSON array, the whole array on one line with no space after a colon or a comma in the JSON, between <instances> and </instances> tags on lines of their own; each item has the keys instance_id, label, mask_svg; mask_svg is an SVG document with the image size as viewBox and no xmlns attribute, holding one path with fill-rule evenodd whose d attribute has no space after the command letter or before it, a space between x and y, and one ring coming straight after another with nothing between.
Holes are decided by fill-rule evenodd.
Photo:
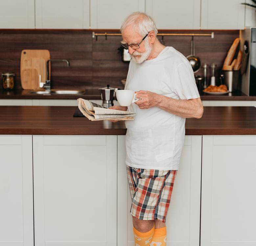
<instances>
[{"instance_id":1,"label":"leftmost white lower cabinet door of the island, cut by photo edge","mask_svg":"<svg viewBox=\"0 0 256 246\"><path fill-rule=\"evenodd\" d=\"M0 246L34 246L31 135L0 135Z\"/></svg>"}]
</instances>

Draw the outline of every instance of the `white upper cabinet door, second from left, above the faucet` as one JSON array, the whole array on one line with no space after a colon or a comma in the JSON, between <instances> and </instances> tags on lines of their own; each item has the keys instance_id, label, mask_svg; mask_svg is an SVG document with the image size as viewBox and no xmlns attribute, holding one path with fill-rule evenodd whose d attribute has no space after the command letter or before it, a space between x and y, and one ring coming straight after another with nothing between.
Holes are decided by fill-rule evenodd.
<instances>
[{"instance_id":1,"label":"white upper cabinet door, second from left, above the faucet","mask_svg":"<svg viewBox=\"0 0 256 246\"><path fill-rule=\"evenodd\" d=\"M89 0L35 0L37 29L89 29Z\"/></svg>"}]
</instances>

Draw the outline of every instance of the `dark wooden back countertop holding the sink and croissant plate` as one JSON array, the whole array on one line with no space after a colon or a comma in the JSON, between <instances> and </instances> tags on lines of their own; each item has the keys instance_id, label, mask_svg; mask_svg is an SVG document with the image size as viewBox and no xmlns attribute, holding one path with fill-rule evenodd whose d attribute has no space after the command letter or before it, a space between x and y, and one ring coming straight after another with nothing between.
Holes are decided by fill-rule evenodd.
<instances>
[{"instance_id":1,"label":"dark wooden back countertop holding the sink and croissant plate","mask_svg":"<svg viewBox=\"0 0 256 246\"><path fill-rule=\"evenodd\" d=\"M12 91L0 90L0 99L77 99L101 100L100 92L97 89L87 89L84 95L33 95L28 94L30 90L14 89ZM224 95L209 95L199 92L201 100L220 101L256 101L256 96L246 96L243 92L231 92Z\"/></svg>"}]
</instances>

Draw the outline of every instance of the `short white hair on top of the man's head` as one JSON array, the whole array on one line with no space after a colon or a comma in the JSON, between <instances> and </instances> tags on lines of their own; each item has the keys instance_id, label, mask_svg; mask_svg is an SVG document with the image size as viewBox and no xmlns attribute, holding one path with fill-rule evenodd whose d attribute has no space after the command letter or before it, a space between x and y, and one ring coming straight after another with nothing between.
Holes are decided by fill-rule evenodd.
<instances>
[{"instance_id":1,"label":"short white hair on top of the man's head","mask_svg":"<svg viewBox=\"0 0 256 246\"><path fill-rule=\"evenodd\" d=\"M143 12L133 12L123 22L120 31L123 33L124 29L128 26L133 26L134 31L138 32L141 36L145 36L150 31L157 34L157 28L153 18Z\"/></svg>"}]
</instances>

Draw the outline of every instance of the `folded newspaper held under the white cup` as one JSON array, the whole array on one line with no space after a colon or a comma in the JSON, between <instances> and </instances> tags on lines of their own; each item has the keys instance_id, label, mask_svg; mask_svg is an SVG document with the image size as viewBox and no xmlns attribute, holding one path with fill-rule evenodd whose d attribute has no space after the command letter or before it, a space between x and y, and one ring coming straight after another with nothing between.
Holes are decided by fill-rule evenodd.
<instances>
[{"instance_id":1,"label":"folded newspaper held under the white cup","mask_svg":"<svg viewBox=\"0 0 256 246\"><path fill-rule=\"evenodd\" d=\"M133 120L136 113L105 109L101 105L78 98L78 108L89 120Z\"/></svg>"}]
</instances>

